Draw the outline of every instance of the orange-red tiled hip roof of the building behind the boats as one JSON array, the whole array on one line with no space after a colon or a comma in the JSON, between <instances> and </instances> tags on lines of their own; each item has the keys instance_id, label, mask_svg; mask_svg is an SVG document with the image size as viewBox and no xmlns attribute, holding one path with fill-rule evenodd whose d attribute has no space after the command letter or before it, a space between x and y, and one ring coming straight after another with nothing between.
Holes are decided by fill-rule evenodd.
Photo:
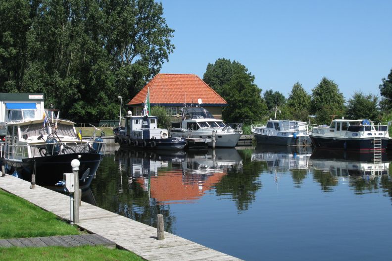
<instances>
[{"instance_id":1,"label":"orange-red tiled hip roof of the building behind the boats","mask_svg":"<svg viewBox=\"0 0 392 261\"><path fill-rule=\"evenodd\" d=\"M150 104L202 104L226 105L226 101L195 74L159 73L128 103L139 105L146 102L149 87Z\"/></svg>"}]
</instances>

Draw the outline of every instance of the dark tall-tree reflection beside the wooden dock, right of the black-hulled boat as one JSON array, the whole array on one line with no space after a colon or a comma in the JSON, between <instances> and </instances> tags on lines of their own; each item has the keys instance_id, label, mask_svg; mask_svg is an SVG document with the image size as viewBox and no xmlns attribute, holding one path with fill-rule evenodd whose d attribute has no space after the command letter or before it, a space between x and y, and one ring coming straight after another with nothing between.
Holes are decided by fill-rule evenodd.
<instances>
[{"instance_id":1,"label":"dark tall-tree reflection beside the wooden dock, right of the black-hulled boat","mask_svg":"<svg viewBox=\"0 0 392 261\"><path fill-rule=\"evenodd\" d=\"M129 160L126 156L116 156L120 161ZM176 218L170 213L170 207L157 205L155 199L148 197L148 191L133 182L132 169L122 165L120 173L119 164L122 163L115 160L114 155L103 157L91 185L97 206L150 226L155 226L157 214L163 214L165 231L173 233Z\"/></svg>"}]
</instances>

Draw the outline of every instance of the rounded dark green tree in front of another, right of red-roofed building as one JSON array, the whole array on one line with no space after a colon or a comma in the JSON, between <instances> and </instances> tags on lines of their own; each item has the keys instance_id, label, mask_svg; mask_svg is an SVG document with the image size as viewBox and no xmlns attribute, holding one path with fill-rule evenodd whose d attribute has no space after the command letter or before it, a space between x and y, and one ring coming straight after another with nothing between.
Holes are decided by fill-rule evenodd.
<instances>
[{"instance_id":1,"label":"rounded dark green tree in front of another, right of red-roofed building","mask_svg":"<svg viewBox=\"0 0 392 261\"><path fill-rule=\"evenodd\" d=\"M222 87L222 97L228 106L222 111L226 122L259 120L267 110L260 97L261 90L253 83L253 77L246 73L234 74L230 82Z\"/></svg>"}]
</instances>

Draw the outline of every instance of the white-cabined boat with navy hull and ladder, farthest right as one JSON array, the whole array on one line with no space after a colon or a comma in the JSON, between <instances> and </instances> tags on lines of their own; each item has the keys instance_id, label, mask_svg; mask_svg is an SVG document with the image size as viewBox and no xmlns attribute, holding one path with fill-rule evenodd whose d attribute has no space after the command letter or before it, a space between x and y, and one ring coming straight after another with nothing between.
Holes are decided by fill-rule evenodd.
<instances>
[{"instance_id":1,"label":"white-cabined boat with navy hull and ladder, farthest right","mask_svg":"<svg viewBox=\"0 0 392 261\"><path fill-rule=\"evenodd\" d=\"M389 141L389 124L375 125L366 119L335 119L331 125L313 127L309 133L315 147L354 150L384 151Z\"/></svg>"}]
</instances>

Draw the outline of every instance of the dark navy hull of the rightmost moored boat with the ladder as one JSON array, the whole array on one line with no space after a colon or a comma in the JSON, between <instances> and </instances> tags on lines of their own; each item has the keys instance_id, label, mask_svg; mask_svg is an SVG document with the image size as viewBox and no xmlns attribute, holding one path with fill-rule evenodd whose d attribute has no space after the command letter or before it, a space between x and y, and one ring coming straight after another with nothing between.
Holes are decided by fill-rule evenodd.
<instances>
[{"instance_id":1,"label":"dark navy hull of the rightmost moored boat with the ladder","mask_svg":"<svg viewBox=\"0 0 392 261\"><path fill-rule=\"evenodd\" d=\"M310 137L312 144L318 148L352 150L352 151L372 151L374 148L373 138L369 139L339 139L339 138L320 138ZM388 138L383 138L381 149L385 150L388 146Z\"/></svg>"}]
</instances>

